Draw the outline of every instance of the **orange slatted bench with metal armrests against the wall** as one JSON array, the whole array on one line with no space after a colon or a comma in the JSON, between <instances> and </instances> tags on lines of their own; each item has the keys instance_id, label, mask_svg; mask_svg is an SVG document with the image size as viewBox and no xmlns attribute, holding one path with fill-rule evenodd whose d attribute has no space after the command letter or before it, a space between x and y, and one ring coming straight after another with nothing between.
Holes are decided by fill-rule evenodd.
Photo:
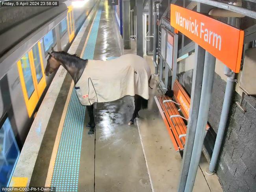
<instances>
[{"instance_id":1,"label":"orange slatted bench with metal armrests against the wall","mask_svg":"<svg viewBox=\"0 0 256 192\"><path fill-rule=\"evenodd\" d=\"M176 151L182 151L186 142L190 97L178 80L174 82L173 92L173 98L166 95L159 95L155 96L154 99L169 132L174 149ZM209 128L210 126L207 124L206 131Z\"/></svg>"}]
</instances>

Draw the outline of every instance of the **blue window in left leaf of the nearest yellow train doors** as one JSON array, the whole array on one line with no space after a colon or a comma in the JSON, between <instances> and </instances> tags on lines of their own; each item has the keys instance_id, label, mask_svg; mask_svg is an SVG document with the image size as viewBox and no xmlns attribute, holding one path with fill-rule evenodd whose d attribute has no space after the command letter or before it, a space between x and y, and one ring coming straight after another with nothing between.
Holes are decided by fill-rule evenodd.
<instances>
[{"instance_id":1,"label":"blue window in left leaf of the nearest yellow train doors","mask_svg":"<svg viewBox=\"0 0 256 192\"><path fill-rule=\"evenodd\" d=\"M23 77L25 80L25 85L26 85L26 90L28 94L28 98L32 95L32 93L35 90L35 87L33 85L33 78L32 78L32 73L31 73L31 67L30 67L30 61L29 61L29 56L28 53L25 54L21 59L21 67L22 67L22 72L23 72Z\"/></svg>"}]
</instances>

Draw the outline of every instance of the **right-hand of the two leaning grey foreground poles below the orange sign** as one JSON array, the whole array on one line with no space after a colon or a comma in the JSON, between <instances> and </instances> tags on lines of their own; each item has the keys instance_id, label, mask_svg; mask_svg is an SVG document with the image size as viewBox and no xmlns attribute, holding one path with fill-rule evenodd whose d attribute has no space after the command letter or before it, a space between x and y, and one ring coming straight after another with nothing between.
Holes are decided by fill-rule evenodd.
<instances>
[{"instance_id":1,"label":"right-hand of the two leaning grey foreground poles below the orange sign","mask_svg":"<svg viewBox=\"0 0 256 192\"><path fill-rule=\"evenodd\" d=\"M215 62L216 58L206 51L204 60L204 74L202 80L202 92L198 111L199 118L197 120L197 129L195 133L193 151L189 165L189 172L187 175L187 182L184 190L185 192L192 192L195 178L197 175L197 169L202 153L202 147L206 133L206 124L208 120L208 113L211 102L211 92L213 87L213 78L215 74Z\"/></svg>"}]
</instances>

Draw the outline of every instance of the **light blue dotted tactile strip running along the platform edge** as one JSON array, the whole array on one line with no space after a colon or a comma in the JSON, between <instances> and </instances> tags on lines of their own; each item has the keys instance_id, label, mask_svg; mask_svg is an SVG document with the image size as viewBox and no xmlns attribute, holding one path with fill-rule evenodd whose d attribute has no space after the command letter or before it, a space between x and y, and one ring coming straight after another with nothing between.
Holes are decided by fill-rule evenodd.
<instances>
[{"instance_id":1,"label":"light blue dotted tactile strip running along the platform edge","mask_svg":"<svg viewBox=\"0 0 256 192\"><path fill-rule=\"evenodd\" d=\"M96 13L82 58L93 59L102 3ZM78 192L78 175L82 146L85 106L81 105L75 89L72 90L59 141L51 186L56 192Z\"/></svg>"}]
</instances>

